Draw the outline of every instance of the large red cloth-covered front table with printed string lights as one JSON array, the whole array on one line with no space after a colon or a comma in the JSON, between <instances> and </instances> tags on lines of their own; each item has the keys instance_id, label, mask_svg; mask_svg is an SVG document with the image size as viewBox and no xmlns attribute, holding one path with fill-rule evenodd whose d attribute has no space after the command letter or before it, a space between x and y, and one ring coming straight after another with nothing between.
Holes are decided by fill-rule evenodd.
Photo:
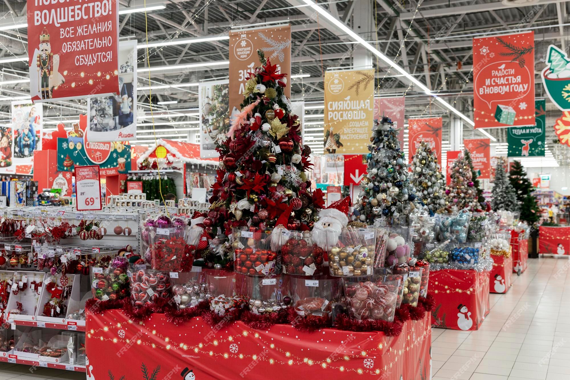
<instances>
[{"instance_id":1,"label":"large red cloth-covered front table with printed string lights","mask_svg":"<svg viewBox=\"0 0 570 380\"><path fill-rule=\"evenodd\" d=\"M430 378L430 314L404 323L398 337L380 332L324 329L299 332L291 325L255 330L242 322L210 328L197 317L176 326L164 314L143 324L121 310L88 313L88 378L291 379ZM144 375L144 371L148 374ZM89 377L91 375L91 377ZM193 377L189 377L192 378Z\"/></svg>"}]
</instances>

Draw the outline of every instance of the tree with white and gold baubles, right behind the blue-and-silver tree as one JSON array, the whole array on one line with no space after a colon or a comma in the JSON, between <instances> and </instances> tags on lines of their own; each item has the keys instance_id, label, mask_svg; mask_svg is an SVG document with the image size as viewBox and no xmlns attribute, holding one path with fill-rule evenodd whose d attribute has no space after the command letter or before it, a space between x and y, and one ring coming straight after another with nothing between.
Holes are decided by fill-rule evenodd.
<instances>
[{"instance_id":1,"label":"tree with white and gold baubles, right behind the blue-and-silver tree","mask_svg":"<svg viewBox=\"0 0 570 380\"><path fill-rule=\"evenodd\" d=\"M445 183L441 175L441 166L435 152L426 142L422 142L412 159L410 184L416 188L418 201L431 212L445 207Z\"/></svg>"}]
</instances>

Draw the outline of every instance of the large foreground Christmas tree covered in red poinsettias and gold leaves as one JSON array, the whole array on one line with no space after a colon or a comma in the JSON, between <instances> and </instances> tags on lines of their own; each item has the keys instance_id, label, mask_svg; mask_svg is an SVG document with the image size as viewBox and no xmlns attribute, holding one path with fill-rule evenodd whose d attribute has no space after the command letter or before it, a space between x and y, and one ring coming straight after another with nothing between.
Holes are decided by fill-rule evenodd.
<instances>
[{"instance_id":1,"label":"large foreground Christmas tree covered in red poinsettias and gold leaves","mask_svg":"<svg viewBox=\"0 0 570 380\"><path fill-rule=\"evenodd\" d=\"M317 210L324 208L323 193L312 192L307 180L311 149L302 144L299 118L284 95L286 74L262 51L258 55L262 64L247 73L242 110L217 139L220 164L203 221L212 237L203 254L206 263L230 260L224 248L233 228L269 232L280 215L292 210L284 227L309 230Z\"/></svg>"}]
</instances>

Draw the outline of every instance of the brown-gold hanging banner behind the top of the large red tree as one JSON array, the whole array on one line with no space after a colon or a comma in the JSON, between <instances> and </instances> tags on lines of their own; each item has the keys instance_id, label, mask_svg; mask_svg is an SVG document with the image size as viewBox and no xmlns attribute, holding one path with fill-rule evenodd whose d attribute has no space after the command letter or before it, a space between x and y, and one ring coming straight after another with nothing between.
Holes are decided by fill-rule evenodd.
<instances>
[{"instance_id":1,"label":"brown-gold hanging banner behind the top of the large red tree","mask_svg":"<svg viewBox=\"0 0 570 380\"><path fill-rule=\"evenodd\" d=\"M287 74L282 81L285 95L291 98L291 26L277 25L254 29L235 30L230 32L230 116L241 111L239 104L243 96L256 94L263 96L262 84L248 83L248 72L254 72L260 66L257 51L261 50L276 70ZM249 88L249 87L252 88ZM264 87L264 86L263 86ZM202 156L203 157L203 156Z\"/></svg>"}]
</instances>

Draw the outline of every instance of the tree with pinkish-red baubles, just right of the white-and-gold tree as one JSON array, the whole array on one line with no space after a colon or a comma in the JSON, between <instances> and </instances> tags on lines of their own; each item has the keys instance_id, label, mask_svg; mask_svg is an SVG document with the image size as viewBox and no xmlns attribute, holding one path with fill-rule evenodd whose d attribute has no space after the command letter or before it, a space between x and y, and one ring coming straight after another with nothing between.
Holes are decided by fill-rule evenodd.
<instances>
[{"instance_id":1,"label":"tree with pinkish-red baubles, just right of the white-and-gold tree","mask_svg":"<svg viewBox=\"0 0 570 380\"><path fill-rule=\"evenodd\" d=\"M467 152L467 151L465 151ZM477 188L473 181L473 165L466 159L465 152L451 163L450 183L445 191L451 209L478 209Z\"/></svg>"}]
</instances>

